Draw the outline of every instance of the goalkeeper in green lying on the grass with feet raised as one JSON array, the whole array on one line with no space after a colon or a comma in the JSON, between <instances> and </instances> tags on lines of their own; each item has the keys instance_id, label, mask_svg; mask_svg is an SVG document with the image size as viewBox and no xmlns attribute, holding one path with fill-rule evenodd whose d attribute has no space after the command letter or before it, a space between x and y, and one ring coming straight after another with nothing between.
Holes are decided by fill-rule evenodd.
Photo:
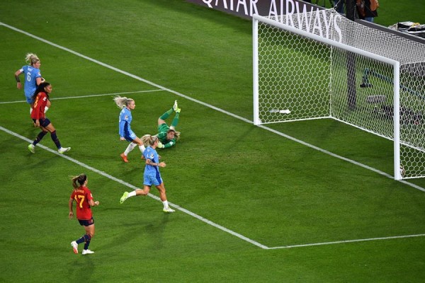
<instances>
[{"instance_id":1,"label":"goalkeeper in green lying on the grass with feet raised","mask_svg":"<svg viewBox=\"0 0 425 283\"><path fill-rule=\"evenodd\" d=\"M179 115L180 115L180 108L177 104L177 100L174 101L173 107L166 111L164 114L161 115L161 117L158 118L158 134L157 137L160 141L158 143L159 149L166 149L168 147L174 146L176 144L176 141L180 138L180 132L176 131L176 126L179 123ZM169 127L166 125L166 118L168 118L173 112L176 112L176 115L174 116L174 119L171 121L171 126Z\"/></svg>"}]
</instances>

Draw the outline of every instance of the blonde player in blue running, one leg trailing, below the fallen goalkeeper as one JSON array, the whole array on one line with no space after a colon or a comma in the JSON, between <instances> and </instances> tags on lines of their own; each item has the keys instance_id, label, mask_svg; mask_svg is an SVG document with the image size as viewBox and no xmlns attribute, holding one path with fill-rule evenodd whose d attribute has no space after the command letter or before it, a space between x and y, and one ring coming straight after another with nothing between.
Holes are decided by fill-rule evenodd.
<instances>
[{"instance_id":1,"label":"blonde player in blue running, one leg trailing, below the fallen goalkeeper","mask_svg":"<svg viewBox=\"0 0 425 283\"><path fill-rule=\"evenodd\" d=\"M159 190L159 198L164 204L164 212L174 212L174 209L169 207L169 203L166 200L165 186L162 181L161 174L159 173L159 167L165 167L165 162L159 162L159 155L155 150L158 146L158 137L151 136L150 134L145 134L142 137L142 141L145 144L149 144L145 151L143 152L143 156L145 156L145 173L143 174L143 190L137 189L132 192L124 192L123 196L120 199L120 203L122 204L129 197L135 197L136 195L147 195L149 194L150 188L152 185L157 187Z\"/></svg>"}]
</instances>

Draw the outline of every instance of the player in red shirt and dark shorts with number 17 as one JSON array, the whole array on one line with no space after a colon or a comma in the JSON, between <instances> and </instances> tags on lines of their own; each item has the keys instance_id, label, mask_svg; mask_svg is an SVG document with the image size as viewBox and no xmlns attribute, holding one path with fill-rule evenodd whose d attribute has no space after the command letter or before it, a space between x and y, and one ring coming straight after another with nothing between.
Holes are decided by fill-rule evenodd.
<instances>
[{"instance_id":1,"label":"player in red shirt and dark shorts with number 17","mask_svg":"<svg viewBox=\"0 0 425 283\"><path fill-rule=\"evenodd\" d=\"M94 237L94 219L93 214L91 213L91 207L98 206L99 202L93 200L93 196L89 188L87 187L87 176L86 174L80 174L72 178L72 191L71 197L69 197L69 219L74 217L74 212L72 211L74 201L77 203L75 209L77 210L77 219L81 226L84 226L86 233L81 236L77 241L72 241L71 246L74 250L74 253L78 253L78 245L84 242L83 255L89 253L94 253L94 251L89 250L89 245L91 238Z\"/></svg>"}]
</instances>

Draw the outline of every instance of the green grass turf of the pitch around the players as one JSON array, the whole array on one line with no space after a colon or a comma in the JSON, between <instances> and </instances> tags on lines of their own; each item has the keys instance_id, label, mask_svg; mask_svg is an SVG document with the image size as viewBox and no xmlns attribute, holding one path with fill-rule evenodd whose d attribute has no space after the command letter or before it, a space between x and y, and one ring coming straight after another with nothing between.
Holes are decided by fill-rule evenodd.
<instances>
[{"instance_id":1,"label":"green grass turf of the pitch around the players","mask_svg":"<svg viewBox=\"0 0 425 283\"><path fill-rule=\"evenodd\" d=\"M160 151L167 163L161 171L169 201L192 214L270 248L425 233L424 192L241 120L252 119L249 21L181 0L8 1L0 21L187 96L128 94L138 135L154 133L157 117L179 100L182 138ZM157 87L3 26L0 36L0 126L12 132L0 131L0 282L425 277L424 236L267 250L181 210L163 214L150 197L119 204L131 190L119 180L140 186L143 164L137 149L130 163L120 160L127 143L119 141L113 95L69 97ZM52 83L47 117L62 144L72 146L71 159L40 147L30 154L26 146L38 129L28 105L5 103L24 99L13 72L26 52L39 55ZM329 120L270 127L392 173L386 139ZM42 144L55 149L48 135ZM82 172L101 202L93 209L96 253L87 256L72 253L69 243L84 230L67 218L70 176ZM409 182L425 187L424 179Z\"/></svg>"}]
</instances>

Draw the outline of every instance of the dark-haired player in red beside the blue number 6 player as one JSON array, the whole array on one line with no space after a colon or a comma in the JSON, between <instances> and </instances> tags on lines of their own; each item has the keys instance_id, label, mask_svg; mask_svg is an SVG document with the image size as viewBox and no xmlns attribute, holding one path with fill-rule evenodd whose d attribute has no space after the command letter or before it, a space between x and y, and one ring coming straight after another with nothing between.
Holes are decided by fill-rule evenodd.
<instances>
[{"instance_id":1,"label":"dark-haired player in red beside the blue number 6 player","mask_svg":"<svg viewBox=\"0 0 425 283\"><path fill-rule=\"evenodd\" d=\"M28 145L28 149L34 154L35 146L42 140L42 138L50 132L50 137L57 147L57 152L64 154L65 152L71 149L70 147L62 147L60 141L56 135L56 129L53 127L53 124L45 116L45 107L50 107L49 94L52 92L52 85L43 81L40 83L40 86L35 90L33 95L33 112L31 112L31 118L34 121L34 127L39 127L41 132L34 139L33 143Z\"/></svg>"}]
</instances>

